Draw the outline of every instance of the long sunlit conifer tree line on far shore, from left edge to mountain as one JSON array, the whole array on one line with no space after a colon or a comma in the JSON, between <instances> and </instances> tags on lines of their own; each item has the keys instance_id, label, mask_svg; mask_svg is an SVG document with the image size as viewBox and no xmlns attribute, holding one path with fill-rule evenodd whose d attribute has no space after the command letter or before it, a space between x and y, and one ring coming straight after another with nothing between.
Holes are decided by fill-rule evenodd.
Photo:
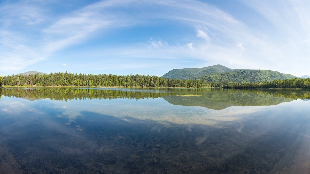
<instances>
[{"instance_id":1,"label":"long sunlit conifer tree line on far shore, from left edge to mountain","mask_svg":"<svg viewBox=\"0 0 310 174\"><path fill-rule=\"evenodd\" d=\"M9 75L2 77L6 86L138 86L138 87L173 87L173 88L211 88L211 84L201 80L167 79L158 76L112 75L112 74L72 74L51 73L49 75Z\"/></svg>"}]
</instances>

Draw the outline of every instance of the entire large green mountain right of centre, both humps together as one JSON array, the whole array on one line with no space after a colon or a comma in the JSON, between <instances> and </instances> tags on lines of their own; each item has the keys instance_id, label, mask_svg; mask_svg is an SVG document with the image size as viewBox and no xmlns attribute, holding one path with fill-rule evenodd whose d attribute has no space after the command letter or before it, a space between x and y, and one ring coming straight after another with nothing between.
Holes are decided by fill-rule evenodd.
<instances>
[{"instance_id":1,"label":"entire large green mountain right of centre, both humps together","mask_svg":"<svg viewBox=\"0 0 310 174\"><path fill-rule=\"evenodd\" d=\"M207 82L261 82L273 80L285 80L297 78L290 74L282 74L277 71L254 69L231 69L222 65L214 65L203 68L173 69L162 77L170 79L204 80Z\"/></svg>"}]
</instances>

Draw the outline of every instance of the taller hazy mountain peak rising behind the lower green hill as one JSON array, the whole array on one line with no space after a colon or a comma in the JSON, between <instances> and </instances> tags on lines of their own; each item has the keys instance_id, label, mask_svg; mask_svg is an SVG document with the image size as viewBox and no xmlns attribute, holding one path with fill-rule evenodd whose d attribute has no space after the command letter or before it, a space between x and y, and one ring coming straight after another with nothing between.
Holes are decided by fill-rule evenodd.
<instances>
[{"instance_id":1,"label":"taller hazy mountain peak rising behind the lower green hill","mask_svg":"<svg viewBox=\"0 0 310 174\"><path fill-rule=\"evenodd\" d=\"M231 71L234 71L234 69L224 67L223 65L213 65L203 68L173 69L162 77L166 77L167 79L195 79L199 76Z\"/></svg>"}]
</instances>

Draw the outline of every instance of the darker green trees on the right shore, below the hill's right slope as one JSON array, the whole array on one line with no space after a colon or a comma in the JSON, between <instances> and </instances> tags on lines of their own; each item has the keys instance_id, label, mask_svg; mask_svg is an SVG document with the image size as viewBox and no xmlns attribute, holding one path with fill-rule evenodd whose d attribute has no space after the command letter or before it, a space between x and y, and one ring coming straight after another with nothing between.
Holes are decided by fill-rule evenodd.
<instances>
[{"instance_id":1,"label":"darker green trees on the right shore, below the hill's right slope","mask_svg":"<svg viewBox=\"0 0 310 174\"><path fill-rule=\"evenodd\" d=\"M227 87L230 88L310 88L310 78L307 79L286 79L273 80L271 82L256 83L231 83Z\"/></svg>"}]
</instances>

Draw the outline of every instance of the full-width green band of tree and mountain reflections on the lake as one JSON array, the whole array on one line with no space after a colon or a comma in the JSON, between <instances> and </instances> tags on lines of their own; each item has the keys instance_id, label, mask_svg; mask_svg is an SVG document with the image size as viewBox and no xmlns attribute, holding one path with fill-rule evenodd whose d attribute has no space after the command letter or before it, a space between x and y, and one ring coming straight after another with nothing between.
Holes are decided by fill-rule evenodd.
<instances>
[{"instance_id":1,"label":"full-width green band of tree and mountain reflections on the lake","mask_svg":"<svg viewBox=\"0 0 310 174\"><path fill-rule=\"evenodd\" d=\"M1 90L0 90L1 92ZM30 101L49 98L51 100L82 99L144 99L164 98L173 105L201 106L222 110L230 106L269 106L294 99L310 99L306 90L253 90L253 89L73 89L73 88L36 88L2 89L6 97L24 98ZM180 94L198 94L182 97ZM0 95L1 97L1 95Z\"/></svg>"}]
</instances>

